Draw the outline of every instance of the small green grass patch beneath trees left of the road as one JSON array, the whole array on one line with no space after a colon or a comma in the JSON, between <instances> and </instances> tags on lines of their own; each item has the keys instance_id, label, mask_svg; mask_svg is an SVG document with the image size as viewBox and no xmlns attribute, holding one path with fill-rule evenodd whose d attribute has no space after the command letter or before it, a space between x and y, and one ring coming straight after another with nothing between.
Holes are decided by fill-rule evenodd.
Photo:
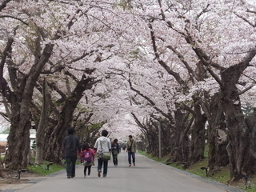
<instances>
[{"instance_id":1,"label":"small green grass patch beneath trees left of the road","mask_svg":"<svg viewBox=\"0 0 256 192\"><path fill-rule=\"evenodd\" d=\"M28 166L27 169L30 170L31 172L34 172L41 176L46 176L47 174L51 174L51 173L57 172L59 170L65 169L64 166L61 166L58 164L53 164L53 165L50 165L49 170L47 170L48 163L49 162L43 162L42 165Z\"/></svg>"}]
</instances>

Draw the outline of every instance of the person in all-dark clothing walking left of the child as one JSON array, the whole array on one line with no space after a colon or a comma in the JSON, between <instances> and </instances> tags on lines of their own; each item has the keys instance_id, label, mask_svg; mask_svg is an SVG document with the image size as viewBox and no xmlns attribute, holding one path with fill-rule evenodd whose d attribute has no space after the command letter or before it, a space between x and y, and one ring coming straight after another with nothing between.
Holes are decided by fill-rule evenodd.
<instances>
[{"instance_id":1,"label":"person in all-dark clothing walking left of the child","mask_svg":"<svg viewBox=\"0 0 256 192\"><path fill-rule=\"evenodd\" d=\"M69 128L67 130L68 136L64 138L63 149L66 160L66 176L67 178L74 178L75 176L75 162L77 160L78 153L81 151L81 146L78 138L74 136L74 129Z\"/></svg>"}]
</instances>

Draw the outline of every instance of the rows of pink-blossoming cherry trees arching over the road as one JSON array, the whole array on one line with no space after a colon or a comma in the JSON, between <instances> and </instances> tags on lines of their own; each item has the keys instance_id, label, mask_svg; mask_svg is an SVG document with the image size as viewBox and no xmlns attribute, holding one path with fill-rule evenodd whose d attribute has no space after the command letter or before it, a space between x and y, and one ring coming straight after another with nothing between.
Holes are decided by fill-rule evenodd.
<instances>
[{"instance_id":1,"label":"rows of pink-blossoming cherry trees arching over the road","mask_svg":"<svg viewBox=\"0 0 256 192\"><path fill-rule=\"evenodd\" d=\"M27 166L31 126L37 162L60 162L68 126L93 140L122 107L150 153L161 131L171 162L201 161L207 142L211 174L255 174L253 3L46 2L0 6L8 168Z\"/></svg>"}]
</instances>

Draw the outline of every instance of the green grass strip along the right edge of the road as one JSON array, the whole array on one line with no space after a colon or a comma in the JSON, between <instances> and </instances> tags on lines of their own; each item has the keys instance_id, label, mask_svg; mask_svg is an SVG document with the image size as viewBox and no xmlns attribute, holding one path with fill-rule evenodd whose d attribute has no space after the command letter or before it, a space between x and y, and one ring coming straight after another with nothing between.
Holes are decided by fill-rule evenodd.
<instances>
[{"instance_id":1,"label":"green grass strip along the right edge of the road","mask_svg":"<svg viewBox=\"0 0 256 192\"><path fill-rule=\"evenodd\" d=\"M206 150L207 150L207 148L206 148ZM170 155L168 155L168 156L165 156L165 157L162 157L161 159L159 159L158 157L152 156L152 154L147 154L145 151L138 151L138 153L146 156L147 158L151 158L154 161L162 162L164 164L166 164L166 160L170 158ZM213 176L206 177L206 170L201 170L201 167L206 167L207 165L208 165L208 159L205 158L201 162L194 163L194 165L190 166L186 171L190 172L191 174L196 174L202 178L208 178L208 179L214 180L216 182L221 182L221 183L227 184L227 181L230 180L230 170L229 170L228 166L222 167L222 170L219 170ZM183 170L181 163L173 163L173 164L170 164L169 166L173 166L175 168ZM255 176L250 177L250 182L252 182L254 185L254 186L251 186L251 189L245 190L244 186L239 186L238 188L248 191L248 192L256 191L256 177Z\"/></svg>"}]
</instances>

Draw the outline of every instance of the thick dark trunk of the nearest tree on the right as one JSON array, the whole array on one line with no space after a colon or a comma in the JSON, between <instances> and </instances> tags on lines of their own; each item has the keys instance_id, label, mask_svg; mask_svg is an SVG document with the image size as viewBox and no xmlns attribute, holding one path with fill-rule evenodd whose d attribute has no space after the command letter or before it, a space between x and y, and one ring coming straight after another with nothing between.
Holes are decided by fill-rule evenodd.
<instances>
[{"instance_id":1,"label":"thick dark trunk of the nearest tree on the right","mask_svg":"<svg viewBox=\"0 0 256 192\"><path fill-rule=\"evenodd\" d=\"M228 130L227 151L231 178L237 174L253 174L255 165L250 129L246 126L238 97L238 88L236 87L241 71L239 65L222 71L222 108L226 116Z\"/></svg>"}]
</instances>

